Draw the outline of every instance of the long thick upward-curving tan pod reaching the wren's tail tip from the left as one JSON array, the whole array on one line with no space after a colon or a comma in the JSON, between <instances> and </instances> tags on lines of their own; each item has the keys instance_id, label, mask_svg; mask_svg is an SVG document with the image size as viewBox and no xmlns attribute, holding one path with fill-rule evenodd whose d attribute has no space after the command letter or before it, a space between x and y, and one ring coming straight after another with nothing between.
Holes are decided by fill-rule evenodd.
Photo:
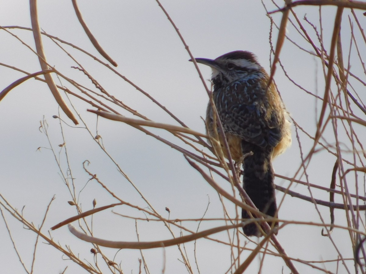
<instances>
[{"instance_id":1,"label":"long thick upward-curving tan pod reaching the wren's tail tip from the left","mask_svg":"<svg viewBox=\"0 0 366 274\"><path fill-rule=\"evenodd\" d=\"M238 228L241 227L242 224L235 225L224 225L222 227L216 227L207 229L204 231L197 232L192 235L186 235L170 240L163 241L151 241L151 242L130 242L130 241L108 241L104 239L99 239L96 237L88 236L84 233L81 233L76 230L76 228L72 224L68 224L68 229L74 236L78 237L83 241L87 241L89 243L98 244L99 246L111 247L111 248L127 248L127 249L150 249L150 248L158 248L158 247L168 247L168 246L176 246L177 244L187 243L188 241L193 241L196 239L200 239L203 237L207 237L211 234L218 233L227 229Z\"/></svg>"}]
</instances>

